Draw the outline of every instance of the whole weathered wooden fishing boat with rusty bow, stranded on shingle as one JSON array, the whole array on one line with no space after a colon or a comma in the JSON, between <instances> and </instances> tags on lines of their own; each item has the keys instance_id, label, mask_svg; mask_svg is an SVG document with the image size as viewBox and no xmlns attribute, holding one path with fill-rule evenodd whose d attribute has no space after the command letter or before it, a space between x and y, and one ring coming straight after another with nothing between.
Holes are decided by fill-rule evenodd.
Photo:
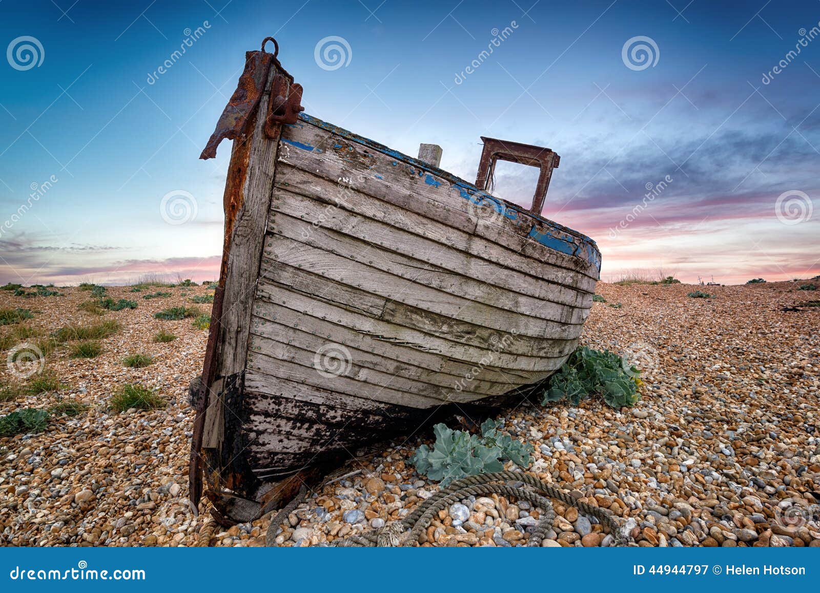
<instances>
[{"instance_id":1,"label":"whole weathered wooden fishing boat with rusty bow, stranded on shingle","mask_svg":"<svg viewBox=\"0 0 820 593\"><path fill-rule=\"evenodd\" d=\"M191 499L204 474L226 523L276 508L358 446L549 377L600 269L590 238L540 215L553 151L482 138L467 183L437 147L412 158L303 114L277 52L247 53L203 152L234 140L190 390ZM499 160L540 168L530 210L486 191Z\"/></svg>"}]
</instances>

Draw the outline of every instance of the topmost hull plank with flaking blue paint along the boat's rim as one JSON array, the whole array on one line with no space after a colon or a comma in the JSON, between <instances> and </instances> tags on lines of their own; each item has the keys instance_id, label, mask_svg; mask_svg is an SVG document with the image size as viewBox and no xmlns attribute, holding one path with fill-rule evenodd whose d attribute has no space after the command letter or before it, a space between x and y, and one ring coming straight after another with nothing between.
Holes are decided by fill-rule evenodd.
<instances>
[{"instance_id":1,"label":"topmost hull plank with flaking blue paint along the boat's rim","mask_svg":"<svg viewBox=\"0 0 820 593\"><path fill-rule=\"evenodd\" d=\"M329 137L332 139L328 140ZM394 192L399 192L401 195L412 192L416 196L430 197L441 207L461 210L464 215L469 215L468 213L471 212L474 215L473 218L479 218L486 223L483 229L476 228L476 233L488 232L494 242L531 257L535 262L544 261L548 257L557 257L556 260L551 260L553 264L561 261L563 262L561 265L567 269L583 271L590 278L598 279L598 266L590 264L581 257L567 255L566 252L560 251L567 246L555 241L549 242L552 247L547 247L530 236L535 226L540 233L551 233L556 239L572 242L577 255L578 251L585 251L581 247L586 242L580 233L572 229L561 227L551 221L549 226L536 222L535 218L518 206L504 210L502 215L495 215L494 210L492 215L483 215L475 206L471 206L470 200L465 199L470 197L468 194L473 191L467 185L453 184L449 179L435 172L430 173L415 165L402 162L395 156L373 151L369 147L362 147L358 143L351 143L344 138L332 136L325 129L319 129L312 124L299 122L286 129L283 138L283 142L288 143L289 146L280 153L280 161L288 162L299 158L305 170L321 174L331 181L339 178L353 179L356 188L376 197L379 197L379 191L385 192L386 189L389 201L392 201ZM317 148L320 144L326 148ZM497 198L492 199L499 204L503 202ZM403 207L412 210L412 204ZM436 220L435 216L430 218Z\"/></svg>"}]
</instances>

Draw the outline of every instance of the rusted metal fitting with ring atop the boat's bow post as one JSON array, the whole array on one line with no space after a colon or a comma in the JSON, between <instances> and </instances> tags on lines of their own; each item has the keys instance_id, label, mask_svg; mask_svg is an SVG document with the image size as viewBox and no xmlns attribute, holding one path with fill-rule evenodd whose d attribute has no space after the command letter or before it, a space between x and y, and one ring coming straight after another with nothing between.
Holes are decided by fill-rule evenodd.
<instances>
[{"instance_id":1,"label":"rusted metal fitting with ring atop the boat's bow post","mask_svg":"<svg viewBox=\"0 0 820 593\"><path fill-rule=\"evenodd\" d=\"M265 45L269 41L273 42L273 53L265 51ZM271 63L276 64L277 69L276 80L271 88L271 101L268 102L267 120L265 121L266 134L273 135L269 129L272 129L277 122L296 123L299 112L304 111L301 105L302 85L294 84L293 76L289 75L276 59L278 54L279 44L272 37L262 40L262 48L259 51L245 52L245 70L239 76L239 84L225 106L225 110L222 111L219 121L216 122L216 129L199 158L212 159L216 156L216 147L223 139L235 140L244 136L248 120L257 109L262 93L265 91Z\"/></svg>"}]
</instances>

